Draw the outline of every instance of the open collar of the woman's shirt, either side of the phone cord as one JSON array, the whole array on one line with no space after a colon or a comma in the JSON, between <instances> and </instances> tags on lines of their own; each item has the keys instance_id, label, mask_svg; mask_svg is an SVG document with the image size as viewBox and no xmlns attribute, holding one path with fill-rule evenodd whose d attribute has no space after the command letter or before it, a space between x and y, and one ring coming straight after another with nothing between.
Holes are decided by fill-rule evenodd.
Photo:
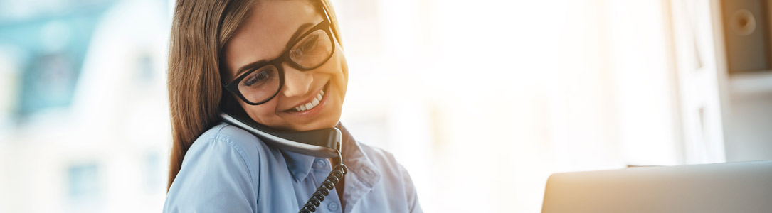
<instances>
[{"instance_id":1,"label":"open collar of the woman's shirt, either side of the phone cord","mask_svg":"<svg viewBox=\"0 0 772 213\"><path fill-rule=\"evenodd\" d=\"M357 140L346 130L342 123L338 122L335 126L341 133L341 149L343 154L343 162L348 167L349 173L346 174L346 185L357 184L358 188L367 189L370 188L381 179L381 172L376 169L373 162L364 151L361 149ZM298 154L292 151L282 150L284 158L287 162L287 168L289 172L295 177L295 181L302 181L308 176L313 166L313 161L317 157ZM348 187L347 187L348 188ZM348 192L345 194L349 194Z\"/></svg>"}]
</instances>

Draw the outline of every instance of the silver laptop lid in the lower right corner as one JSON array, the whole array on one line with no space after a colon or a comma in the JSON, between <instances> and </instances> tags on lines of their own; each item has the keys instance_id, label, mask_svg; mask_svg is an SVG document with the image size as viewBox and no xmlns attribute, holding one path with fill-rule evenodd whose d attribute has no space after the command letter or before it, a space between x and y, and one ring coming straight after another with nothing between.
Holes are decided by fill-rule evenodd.
<instances>
[{"instance_id":1,"label":"silver laptop lid in the lower right corner","mask_svg":"<svg viewBox=\"0 0 772 213\"><path fill-rule=\"evenodd\" d=\"M772 161L552 174L543 213L772 212Z\"/></svg>"}]
</instances>

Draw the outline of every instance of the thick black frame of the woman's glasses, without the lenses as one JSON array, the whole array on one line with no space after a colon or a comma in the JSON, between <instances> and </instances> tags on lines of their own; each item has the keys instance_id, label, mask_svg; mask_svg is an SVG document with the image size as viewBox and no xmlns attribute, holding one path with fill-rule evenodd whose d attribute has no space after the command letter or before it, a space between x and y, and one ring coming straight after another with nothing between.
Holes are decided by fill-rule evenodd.
<instances>
[{"instance_id":1,"label":"thick black frame of the woman's glasses, without the lenses","mask_svg":"<svg viewBox=\"0 0 772 213\"><path fill-rule=\"evenodd\" d=\"M249 69L249 71L246 71L246 72L242 73L240 76L238 76L235 79L233 79L230 83L224 83L224 84L222 84L222 86L225 87L225 90L228 90L231 93L235 93L236 96L239 96L239 98L241 100L243 100L245 103L249 103L249 105L259 105L259 104L262 104L262 103L266 103L266 102L268 102L270 100L273 100L273 97L275 97L277 94L279 94L279 91L281 91L282 88L284 88L284 68L282 67L283 63L288 63L289 66L292 66L293 68L298 69L300 71L308 71L308 70L311 70L311 69L317 69L318 67L320 67L320 66L324 65L325 63L327 63L327 61L330 60L330 58L332 58L332 56L334 55L335 49L337 49L337 48L335 47L335 37L333 37L332 32L330 32L330 19L327 17L327 12L326 11L324 12L323 16L324 16L324 20L322 22L320 22L319 24L313 26L308 31L304 32L303 35L298 36L294 41L288 42L287 43L288 46L286 47L286 49L284 49L284 52L282 52L281 56L279 56L276 59L272 59L272 60L269 60L269 61L266 61L266 62L263 62L263 63L256 64L255 66L253 66L255 68ZM302 41L303 39L306 38L307 35L309 35L309 34L311 34L313 32L316 32L319 29L322 29L324 32L326 32L327 36L329 36L329 38L330 38L330 42L331 42L330 45L333 48L332 50L330 50L330 56L327 56L327 58L322 60L321 63L319 63L317 66L313 66L313 67L301 66L300 64L298 64L295 61L293 61L289 57L289 52L292 51L293 47L295 47L297 45L297 42ZM239 91L239 83L246 76L249 76L249 74L254 73L256 70L262 69L263 67L269 66L269 65L273 65L274 67L276 67L276 72L279 73L279 89L277 89L276 92L273 93L273 95L269 96L266 100L262 100L262 101L257 102L257 103L247 100L246 97L244 97L244 95L241 93L241 91Z\"/></svg>"}]
</instances>

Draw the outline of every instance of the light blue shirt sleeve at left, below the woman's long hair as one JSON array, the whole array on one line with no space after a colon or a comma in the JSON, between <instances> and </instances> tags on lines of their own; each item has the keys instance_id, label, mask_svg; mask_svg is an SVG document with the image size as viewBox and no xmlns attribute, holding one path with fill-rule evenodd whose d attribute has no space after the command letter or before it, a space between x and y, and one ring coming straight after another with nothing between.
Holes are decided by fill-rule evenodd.
<instances>
[{"instance_id":1,"label":"light blue shirt sleeve at left, below the woman's long hair","mask_svg":"<svg viewBox=\"0 0 772 213\"><path fill-rule=\"evenodd\" d=\"M164 212L256 212L256 180L228 137L196 141L169 188Z\"/></svg>"}]
</instances>

